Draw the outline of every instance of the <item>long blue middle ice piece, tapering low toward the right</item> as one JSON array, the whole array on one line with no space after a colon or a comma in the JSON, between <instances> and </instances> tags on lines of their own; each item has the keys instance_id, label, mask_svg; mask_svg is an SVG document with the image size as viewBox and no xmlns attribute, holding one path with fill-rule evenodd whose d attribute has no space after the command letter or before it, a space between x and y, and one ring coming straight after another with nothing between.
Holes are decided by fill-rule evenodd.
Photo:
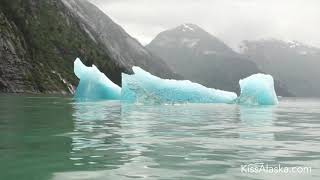
<instances>
[{"instance_id":1,"label":"long blue middle ice piece, tapering low toward the right","mask_svg":"<svg viewBox=\"0 0 320 180\"><path fill-rule=\"evenodd\" d=\"M121 99L128 103L232 103L237 94L207 88L188 80L161 79L133 67L133 75L122 74Z\"/></svg>"}]
</instances>

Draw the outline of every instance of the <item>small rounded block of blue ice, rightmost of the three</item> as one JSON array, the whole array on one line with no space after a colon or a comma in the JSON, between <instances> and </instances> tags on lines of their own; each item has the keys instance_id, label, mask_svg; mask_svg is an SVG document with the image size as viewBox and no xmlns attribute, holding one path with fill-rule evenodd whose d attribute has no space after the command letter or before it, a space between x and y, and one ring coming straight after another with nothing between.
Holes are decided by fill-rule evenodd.
<instances>
[{"instance_id":1,"label":"small rounded block of blue ice, rightmost of the three","mask_svg":"<svg viewBox=\"0 0 320 180\"><path fill-rule=\"evenodd\" d=\"M239 81L240 97L238 104L242 105L276 105L278 97L274 89L271 75L254 74Z\"/></svg>"}]
</instances>

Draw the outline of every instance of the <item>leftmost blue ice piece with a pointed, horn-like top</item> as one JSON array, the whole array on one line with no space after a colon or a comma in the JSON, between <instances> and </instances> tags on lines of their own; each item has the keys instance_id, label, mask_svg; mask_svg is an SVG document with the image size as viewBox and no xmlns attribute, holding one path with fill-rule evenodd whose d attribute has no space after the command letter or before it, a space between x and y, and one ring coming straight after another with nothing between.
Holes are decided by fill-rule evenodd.
<instances>
[{"instance_id":1,"label":"leftmost blue ice piece with a pointed, horn-like top","mask_svg":"<svg viewBox=\"0 0 320 180\"><path fill-rule=\"evenodd\" d=\"M121 88L99 69L85 66L79 58L74 62L74 73L80 79L75 92L78 100L120 100Z\"/></svg>"}]
</instances>

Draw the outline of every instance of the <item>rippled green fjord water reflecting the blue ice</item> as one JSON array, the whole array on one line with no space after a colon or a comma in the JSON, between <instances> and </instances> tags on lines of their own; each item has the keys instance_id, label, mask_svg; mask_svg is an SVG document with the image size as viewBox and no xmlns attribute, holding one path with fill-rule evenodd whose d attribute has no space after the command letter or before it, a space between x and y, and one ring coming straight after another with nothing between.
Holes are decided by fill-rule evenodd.
<instances>
[{"instance_id":1,"label":"rippled green fjord water reflecting the blue ice","mask_svg":"<svg viewBox=\"0 0 320 180\"><path fill-rule=\"evenodd\" d=\"M312 172L241 172L250 163ZM0 96L0 179L320 179L319 168L319 99L247 107Z\"/></svg>"}]
</instances>

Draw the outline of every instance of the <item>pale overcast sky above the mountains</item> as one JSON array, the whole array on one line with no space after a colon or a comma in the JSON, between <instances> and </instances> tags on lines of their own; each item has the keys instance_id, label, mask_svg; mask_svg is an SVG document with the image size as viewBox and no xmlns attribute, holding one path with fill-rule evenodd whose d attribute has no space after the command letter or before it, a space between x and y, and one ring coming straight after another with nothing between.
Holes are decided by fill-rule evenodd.
<instances>
[{"instance_id":1,"label":"pale overcast sky above the mountains","mask_svg":"<svg viewBox=\"0 0 320 180\"><path fill-rule=\"evenodd\" d=\"M142 44L193 23L232 48L277 38L320 47L320 0L91 0Z\"/></svg>"}]
</instances>

